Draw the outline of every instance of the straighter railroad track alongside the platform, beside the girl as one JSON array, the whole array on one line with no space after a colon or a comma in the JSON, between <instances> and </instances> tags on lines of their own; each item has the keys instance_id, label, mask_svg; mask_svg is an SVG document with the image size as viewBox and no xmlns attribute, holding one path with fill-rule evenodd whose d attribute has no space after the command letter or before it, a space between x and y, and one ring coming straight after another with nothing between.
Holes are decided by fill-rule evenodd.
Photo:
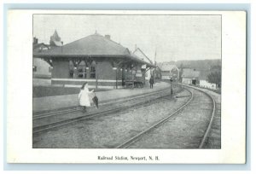
<instances>
[{"instance_id":1,"label":"straighter railroad track alongside the platform, beside the girl","mask_svg":"<svg viewBox=\"0 0 256 174\"><path fill-rule=\"evenodd\" d=\"M182 89L177 85L175 90L177 90L177 93L178 93ZM100 107L105 106L105 108L103 108L99 112L81 114L81 111L82 111L81 109L69 109L69 110L63 110L63 111L58 111L54 113L36 114L33 117L32 132L33 134L36 134L43 131L49 131L51 129L55 129L63 125L73 124L75 122L79 122L84 119L91 119L94 117L99 117L99 116L110 114L110 113L116 113L119 111L123 111L125 109L129 109L131 107L143 105L147 102L153 102L154 100L158 100L160 98L170 96L168 94L168 91L170 91L169 88L160 90L157 92L152 92L149 94L129 97L129 98L126 98L125 100L123 99L123 100L116 100L111 103L103 103L103 104L100 104ZM139 102L139 100L143 100L143 101ZM120 102L122 102L121 106L113 107L114 104L117 104ZM124 103L125 103L125 106L124 106ZM73 113L73 115L70 113Z\"/></svg>"}]
</instances>

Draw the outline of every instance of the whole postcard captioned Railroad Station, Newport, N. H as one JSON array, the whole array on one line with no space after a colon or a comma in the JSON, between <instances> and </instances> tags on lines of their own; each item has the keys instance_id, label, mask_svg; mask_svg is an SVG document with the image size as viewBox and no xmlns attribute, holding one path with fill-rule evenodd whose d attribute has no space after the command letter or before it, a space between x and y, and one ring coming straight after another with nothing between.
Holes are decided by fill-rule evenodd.
<instances>
[{"instance_id":1,"label":"whole postcard captioned Railroad Station, Newport, N. H","mask_svg":"<svg viewBox=\"0 0 256 174\"><path fill-rule=\"evenodd\" d=\"M245 11L8 11L9 163L246 163Z\"/></svg>"}]
</instances>

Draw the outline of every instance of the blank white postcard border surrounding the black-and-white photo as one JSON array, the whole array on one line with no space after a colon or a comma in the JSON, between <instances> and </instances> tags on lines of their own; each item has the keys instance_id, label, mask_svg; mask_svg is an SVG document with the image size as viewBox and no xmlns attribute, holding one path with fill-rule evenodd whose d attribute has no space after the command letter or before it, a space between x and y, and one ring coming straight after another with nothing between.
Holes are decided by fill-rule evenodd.
<instances>
[{"instance_id":1,"label":"blank white postcard border surrounding the black-and-white photo","mask_svg":"<svg viewBox=\"0 0 256 174\"><path fill-rule=\"evenodd\" d=\"M222 14L222 148L32 148L32 14ZM226 11L9 10L7 157L10 163L243 164L246 157L246 13ZM22 66L22 70L20 69ZM20 70L19 73L13 70ZM21 77L21 78L20 78ZM234 153L236 152L236 153ZM160 160L99 160L97 156L153 156Z\"/></svg>"}]
</instances>

